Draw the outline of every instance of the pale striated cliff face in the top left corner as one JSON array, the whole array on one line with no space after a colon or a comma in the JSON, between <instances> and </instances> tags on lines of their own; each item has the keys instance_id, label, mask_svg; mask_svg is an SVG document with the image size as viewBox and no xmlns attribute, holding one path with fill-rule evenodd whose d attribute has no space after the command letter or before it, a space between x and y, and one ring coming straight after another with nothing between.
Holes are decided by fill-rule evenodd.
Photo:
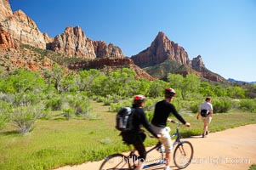
<instances>
[{"instance_id":1,"label":"pale striated cliff face in the top left corner","mask_svg":"<svg viewBox=\"0 0 256 170\"><path fill-rule=\"evenodd\" d=\"M0 0L0 5L0 23L9 32L14 42L46 48L47 43L53 41L47 34L39 31L36 23L22 10L13 13L8 0Z\"/></svg>"}]
</instances>

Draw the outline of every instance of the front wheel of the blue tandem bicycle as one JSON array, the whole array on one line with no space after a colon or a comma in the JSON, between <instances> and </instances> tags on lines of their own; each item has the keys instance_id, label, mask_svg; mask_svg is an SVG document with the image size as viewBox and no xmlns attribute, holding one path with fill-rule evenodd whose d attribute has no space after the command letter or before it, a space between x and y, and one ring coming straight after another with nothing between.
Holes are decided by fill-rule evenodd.
<instances>
[{"instance_id":1,"label":"front wheel of the blue tandem bicycle","mask_svg":"<svg viewBox=\"0 0 256 170\"><path fill-rule=\"evenodd\" d=\"M194 150L189 141L181 142L174 150L174 164L179 169L188 167L193 158Z\"/></svg>"}]
</instances>

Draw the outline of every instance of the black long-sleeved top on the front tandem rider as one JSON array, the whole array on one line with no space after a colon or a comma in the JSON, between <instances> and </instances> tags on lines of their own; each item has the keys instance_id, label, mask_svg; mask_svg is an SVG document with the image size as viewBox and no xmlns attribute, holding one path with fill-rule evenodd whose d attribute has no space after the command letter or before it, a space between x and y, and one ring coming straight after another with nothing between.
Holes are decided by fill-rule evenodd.
<instances>
[{"instance_id":1,"label":"black long-sleeved top on the front tandem rider","mask_svg":"<svg viewBox=\"0 0 256 170\"><path fill-rule=\"evenodd\" d=\"M170 116L171 113L173 113L180 122L185 124L185 120L179 115L178 111L176 111L174 105L165 99L156 103L155 113L151 123L156 127L166 127L168 116Z\"/></svg>"}]
</instances>

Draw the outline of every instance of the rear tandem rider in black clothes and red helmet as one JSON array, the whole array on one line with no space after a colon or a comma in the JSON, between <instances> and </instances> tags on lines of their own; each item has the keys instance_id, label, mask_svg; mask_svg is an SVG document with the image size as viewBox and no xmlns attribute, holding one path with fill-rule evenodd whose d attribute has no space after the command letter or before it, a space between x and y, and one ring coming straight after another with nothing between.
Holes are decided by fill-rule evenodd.
<instances>
[{"instance_id":1,"label":"rear tandem rider in black clothes and red helmet","mask_svg":"<svg viewBox=\"0 0 256 170\"><path fill-rule=\"evenodd\" d=\"M133 144L134 148L139 152L139 163L138 167L136 167L136 170L141 170L143 168L143 162L145 161L146 157L145 146L143 144L146 135L140 128L141 125L143 125L154 137L157 139L159 138L159 135L157 135L157 133L152 129L151 124L145 117L145 112L143 111L144 105L145 96L134 96L134 103L131 113L132 119L129 119L129 121L132 120L131 127L129 127L129 130L121 132L122 140L126 144Z\"/></svg>"}]
</instances>

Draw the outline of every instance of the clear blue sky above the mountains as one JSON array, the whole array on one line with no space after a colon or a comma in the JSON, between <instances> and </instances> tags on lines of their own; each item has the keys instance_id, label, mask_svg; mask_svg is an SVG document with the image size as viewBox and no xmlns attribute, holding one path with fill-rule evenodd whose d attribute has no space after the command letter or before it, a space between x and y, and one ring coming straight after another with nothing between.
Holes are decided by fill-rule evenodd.
<instances>
[{"instance_id":1,"label":"clear blue sky above the mountains","mask_svg":"<svg viewBox=\"0 0 256 170\"><path fill-rule=\"evenodd\" d=\"M50 37L80 26L93 40L113 43L126 56L148 48L158 31L201 55L225 78L256 81L255 0L9 0Z\"/></svg>"}]
</instances>

